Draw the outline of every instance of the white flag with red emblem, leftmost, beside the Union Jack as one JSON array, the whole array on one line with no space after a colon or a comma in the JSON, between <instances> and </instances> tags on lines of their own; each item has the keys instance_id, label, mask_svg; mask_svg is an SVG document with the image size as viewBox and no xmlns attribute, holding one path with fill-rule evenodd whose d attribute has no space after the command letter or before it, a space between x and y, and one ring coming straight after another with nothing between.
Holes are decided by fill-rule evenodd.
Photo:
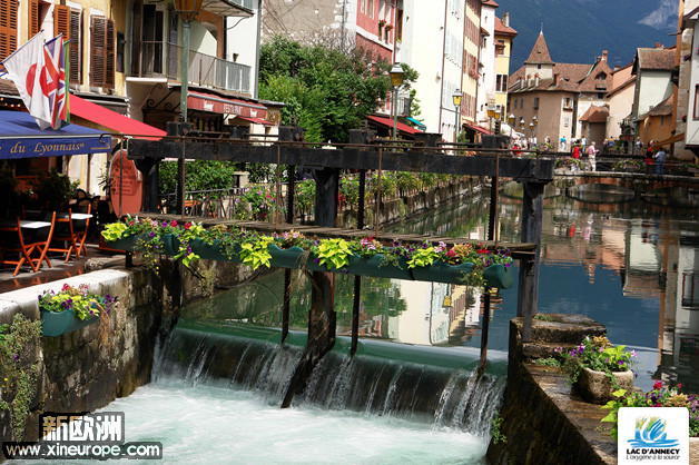
<instances>
[{"instance_id":1,"label":"white flag with red emblem, leftmost, beside the Union Jack","mask_svg":"<svg viewBox=\"0 0 699 465\"><path fill-rule=\"evenodd\" d=\"M45 71L43 39L36 34L2 61L22 101L41 129L51 126L51 107Z\"/></svg>"}]
</instances>

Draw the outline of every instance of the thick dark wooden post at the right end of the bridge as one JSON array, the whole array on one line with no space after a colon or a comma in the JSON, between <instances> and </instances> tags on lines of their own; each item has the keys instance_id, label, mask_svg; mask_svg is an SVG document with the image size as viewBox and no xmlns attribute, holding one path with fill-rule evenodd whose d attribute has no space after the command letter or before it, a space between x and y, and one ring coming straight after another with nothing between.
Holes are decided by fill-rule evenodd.
<instances>
[{"instance_id":1,"label":"thick dark wooden post at the right end of the bridge","mask_svg":"<svg viewBox=\"0 0 699 465\"><path fill-rule=\"evenodd\" d=\"M543 220L544 182L524 182L522 199L523 243L536 244L533 259L520 260L520 280L518 288L516 316L524 317L522 340L532 337L532 319L536 314L539 300L539 261L541 253L541 227Z\"/></svg>"}]
</instances>

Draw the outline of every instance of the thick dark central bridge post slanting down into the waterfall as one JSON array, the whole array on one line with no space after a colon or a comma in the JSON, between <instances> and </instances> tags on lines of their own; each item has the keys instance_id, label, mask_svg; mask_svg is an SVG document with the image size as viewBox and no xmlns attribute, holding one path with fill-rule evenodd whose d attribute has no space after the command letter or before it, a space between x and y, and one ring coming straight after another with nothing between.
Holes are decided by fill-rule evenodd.
<instances>
[{"instance_id":1,"label":"thick dark central bridge post slanting down into the waterfall","mask_svg":"<svg viewBox=\"0 0 699 465\"><path fill-rule=\"evenodd\" d=\"M316 181L315 224L316 226L334 227L337 216L339 170L316 169L313 177ZM335 345L337 319L335 314L335 275L323 271L313 271L307 275L312 286L308 342L296 364L282 408L292 405L294 395L301 393L308 384L313 368Z\"/></svg>"}]
</instances>

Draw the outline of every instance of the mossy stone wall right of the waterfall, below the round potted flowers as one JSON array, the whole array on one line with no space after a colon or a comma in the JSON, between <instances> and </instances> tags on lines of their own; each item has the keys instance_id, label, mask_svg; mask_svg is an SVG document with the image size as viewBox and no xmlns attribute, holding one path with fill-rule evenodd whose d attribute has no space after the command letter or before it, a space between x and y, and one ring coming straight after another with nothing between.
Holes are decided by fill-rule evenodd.
<instances>
[{"instance_id":1,"label":"mossy stone wall right of the waterfall, below the round potted flowers","mask_svg":"<svg viewBox=\"0 0 699 465\"><path fill-rule=\"evenodd\" d=\"M552 355L557 347L582 340L583 335L604 334L604 327L587 317L547 315L534 319L532 342L522 343L522 318L510 323L508 386L500 413L505 442L488 448L493 464L609 464L617 463L617 442L607 415L571 393L559 368L542 367L535 358Z\"/></svg>"}]
</instances>

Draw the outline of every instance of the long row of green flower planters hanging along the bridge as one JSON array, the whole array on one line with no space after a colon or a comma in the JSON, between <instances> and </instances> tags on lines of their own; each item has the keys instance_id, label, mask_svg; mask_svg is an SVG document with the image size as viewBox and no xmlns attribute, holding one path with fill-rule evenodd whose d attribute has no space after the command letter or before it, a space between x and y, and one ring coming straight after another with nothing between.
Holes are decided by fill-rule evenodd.
<instances>
[{"instance_id":1,"label":"long row of green flower planters hanging along the bridge","mask_svg":"<svg viewBox=\"0 0 699 465\"><path fill-rule=\"evenodd\" d=\"M105 228L105 239L114 241L137 235L134 251L144 250L144 243L159 246L158 238L171 235L174 250L146 249L152 260L156 254L168 254L183 257L185 265L201 257L240 261L254 268L304 268L500 288L510 287L513 280L510 250L489 250L481 244L449 248L443 243L415 245L394 240L388 246L371 237L311 239L296 231L269 236L223 225L205 229L189 222L178 226L175 221L168 225L134 218L127 218L126 227L117 225Z\"/></svg>"}]
</instances>

